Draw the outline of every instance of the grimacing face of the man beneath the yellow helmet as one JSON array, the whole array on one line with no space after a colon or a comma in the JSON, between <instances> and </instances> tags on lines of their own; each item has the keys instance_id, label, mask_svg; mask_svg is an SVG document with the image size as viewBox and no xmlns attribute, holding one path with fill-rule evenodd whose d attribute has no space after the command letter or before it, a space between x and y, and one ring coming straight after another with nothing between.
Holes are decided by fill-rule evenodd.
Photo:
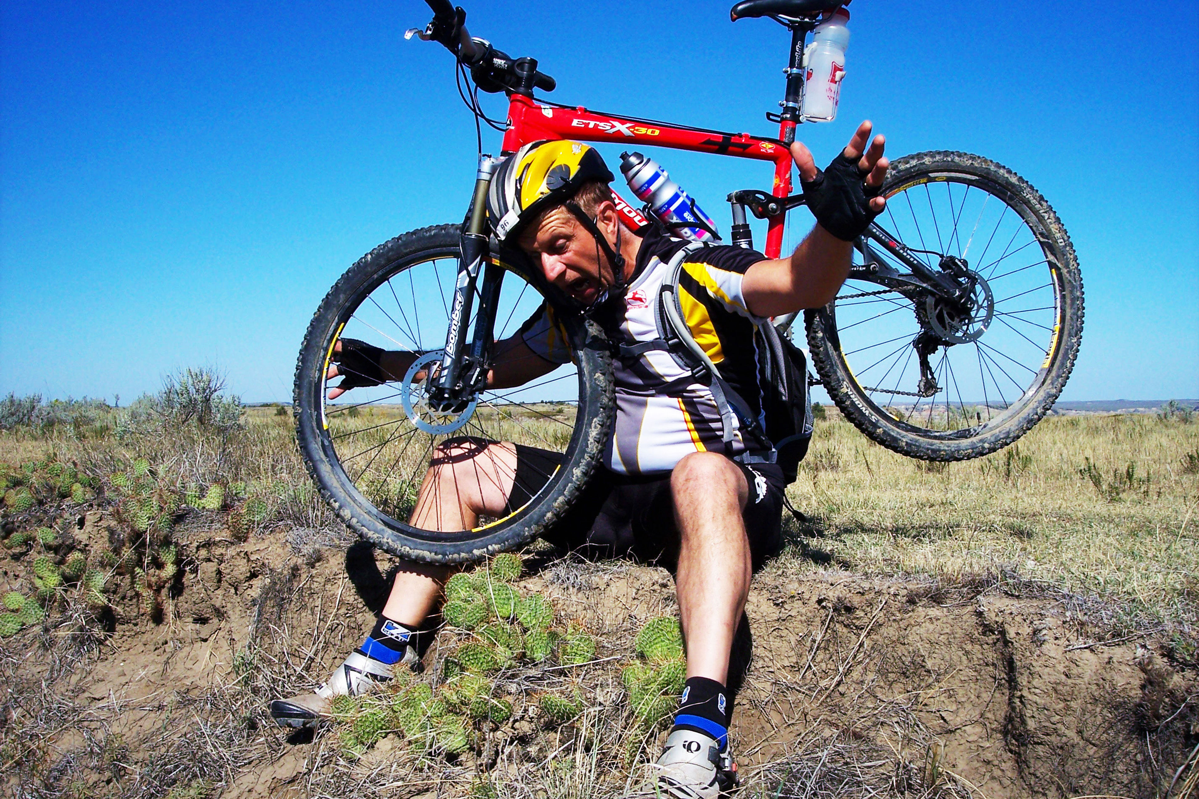
<instances>
[{"instance_id":1,"label":"grimacing face of the man beneath the yellow helmet","mask_svg":"<svg viewBox=\"0 0 1199 799\"><path fill-rule=\"evenodd\" d=\"M600 229L605 231L603 216ZM522 236L520 247L541 264L547 280L585 305L615 283L595 238L566 208L546 214L536 232Z\"/></svg>"}]
</instances>

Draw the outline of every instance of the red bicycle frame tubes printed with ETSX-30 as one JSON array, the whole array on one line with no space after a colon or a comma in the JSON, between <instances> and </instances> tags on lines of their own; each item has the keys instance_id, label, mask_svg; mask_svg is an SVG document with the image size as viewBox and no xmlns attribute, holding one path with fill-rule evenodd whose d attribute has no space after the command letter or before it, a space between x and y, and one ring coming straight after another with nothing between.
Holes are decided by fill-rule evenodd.
<instances>
[{"instance_id":1,"label":"red bicycle frame tubes printed with ETSX-30","mask_svg":"<svg viewBox=\"0 0 1199 799\"><path fill-rule=\"evenodd\" d=\"M508 129L504 134L504 152L514 152L523 145L543 139L576 139L580 141L637 141L653 147L711 152L718 156L771 161L775 182L771 194L785 198L791 193L791 153L784 141L795 135L795 122L779 125L778 139L760 139L748 133L722 133L705 128L689 128L650 120L609 116L578 108L544 105L520 93L511 96ZM632 228L645 224L635 208L613 192L616 210ZM783 223L787 211L769 218L766 258L778 258L783 250Z\"/></svg>"}]
</instances>

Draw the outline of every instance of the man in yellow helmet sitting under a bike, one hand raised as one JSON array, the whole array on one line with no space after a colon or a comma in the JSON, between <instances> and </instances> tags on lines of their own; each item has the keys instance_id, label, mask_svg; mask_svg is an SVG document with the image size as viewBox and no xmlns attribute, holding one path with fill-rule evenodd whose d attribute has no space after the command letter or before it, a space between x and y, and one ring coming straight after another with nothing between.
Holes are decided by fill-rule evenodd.
<instances>
[{"instance_id":1,"label":"man in yellow helmet sitting under a bike, one hand raised","mask_svg":"<svg viewBox=\"0 0 1199 799\"><path fill-rule=\"evenodd\" d=\"M868 144L869 143L869 144ZM755 326L770 316L827 303L844 282L850 242L885 205L884 139L870 141L863 122L825 172L802 144L791 146L818 225L787 259L769 260L737 247L709 247L683 261L680 289L692 335L743 398L760 411ZM501 244L519 247L544 278L584 307L609 337L635 345L658 337L653 323L667 262L683 242L661 229L640 235L623 226L608 183L611 172L591 147L572 141L526 145L496 170L488 216ZM626 351L631 347L626 347ZM373 347L372 347L373 350ZM520 385L564 363L553 320L535 316L498 346L493 387ZM330 377L341 394L363 385L347 368L362 350L343 343ZM402 353L375 356L385 374ZM403 365L403 364L400 364ZM725 692L729 655L753 569L779 545L785 488L781 470L755 459L760 444L722 437L717 402L687 379L669 352L631 352L616 359L616 416L604 465L555 528L556 543L608 556L658 558L676 575L687 655L687 682L665 749L644 795L711 799L731 787ZM505 442L463 438L442 444L421 488L412 523L469 529L480 515L520 504L523 474L544 470L552 453ZM574 538L571 538L574 535ZM416 638L441 601L446 567L406 563L375 628L315 695L276 701L279 724L311 726L336 694L359 694L388 679L392 668L418 666Z\"/></svg>"}]
</instances>

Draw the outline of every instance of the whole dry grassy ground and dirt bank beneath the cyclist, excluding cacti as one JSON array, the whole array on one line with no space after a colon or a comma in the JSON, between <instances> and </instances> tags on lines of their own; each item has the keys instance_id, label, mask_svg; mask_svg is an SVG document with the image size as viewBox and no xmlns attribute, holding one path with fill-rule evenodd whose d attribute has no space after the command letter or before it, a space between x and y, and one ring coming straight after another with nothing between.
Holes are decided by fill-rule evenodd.
<instances>
[{"instance_id":1,"label":"whole dry grassy ground and dirt bank beneath the cyclist, excluding cacti","mask_svg":"<svg viewBox=\"0 0 1199 799\"><path fill-rule=\"evenodd\" d=\"M0 792L610 799L657 746L663 727L637 721L621 668L645 619L675 613L669 576L546 553L519 591L552 597L564 635L589 629L598 650L493 671L513 720L468 722L477 738L454 757L421 753L406 732L348 749L350 722L311 746L285 739L266 698L309 690L339 662L394 565L356 551L318 496L290 408L205 424L59 411L53 425L0 430L0 476L14 486L0 589L36 586L44 607L0 640ZM534 446L560 435L547 416L570 413L490 412ZM384 407L336 425L366 446L380 424L406 429L398 419ZM787 521L789 545L751 595L741 795L1071 798L1103 793L1103 765L1129 758L1125 787L1105 793L1163 797L1175 769L1199 783L1189 417L1055 416L1002 452L946 465L885 450L826 410L788 494L805 521ZM79 569L107 570L103 597L68 575L79 553ZM58 587L48 567L66 575ZM442 690L447 658L477 638L439 636L426 684ZM546 692L585 709L537 726L529 708Z\"/></svg>"}]
</instances>

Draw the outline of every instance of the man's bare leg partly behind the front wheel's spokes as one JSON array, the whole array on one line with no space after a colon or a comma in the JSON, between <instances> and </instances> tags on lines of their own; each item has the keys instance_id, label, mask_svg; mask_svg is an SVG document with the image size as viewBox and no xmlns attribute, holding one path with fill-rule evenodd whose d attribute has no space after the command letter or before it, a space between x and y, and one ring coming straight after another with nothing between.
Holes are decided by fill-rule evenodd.
<instances>
[{"instance_id":1,"label":"man's bare leg partly behind the front wheel's spokes","mask_svg":"<svg viewBox=\"0 0 1199 799\"><path fill-rule=\"evenodd\" d=\"M424 529L470 529L481 514L504 515L516 477L510 443L460 438L442 443L421 484L411 523ZM424 623L441 600L441 586L457 569L404 561L382 615L404 627Z\"/></svg>"}]
</instances>

